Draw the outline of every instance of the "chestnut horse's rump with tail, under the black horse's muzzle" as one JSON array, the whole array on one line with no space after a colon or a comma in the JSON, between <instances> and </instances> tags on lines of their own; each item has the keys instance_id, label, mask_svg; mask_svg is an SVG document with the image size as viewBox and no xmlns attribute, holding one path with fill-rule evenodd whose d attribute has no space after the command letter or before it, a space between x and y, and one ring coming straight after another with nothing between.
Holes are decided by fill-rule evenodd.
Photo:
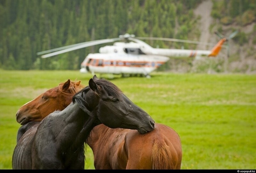
<instances>
[{"instance_id":1,"label":"chestnut horse's rump with tail, under the black horse's muzzle","mask_svg":"<svg viewBox=\"0 0 256 173\"><path fill-rule=\"evenodd\" d=\"M180 169L180 137L171 127L156 123L155 129L145 134L131 130L125 136L125 147L126 169Z\"/></svg>"}]
</instances>

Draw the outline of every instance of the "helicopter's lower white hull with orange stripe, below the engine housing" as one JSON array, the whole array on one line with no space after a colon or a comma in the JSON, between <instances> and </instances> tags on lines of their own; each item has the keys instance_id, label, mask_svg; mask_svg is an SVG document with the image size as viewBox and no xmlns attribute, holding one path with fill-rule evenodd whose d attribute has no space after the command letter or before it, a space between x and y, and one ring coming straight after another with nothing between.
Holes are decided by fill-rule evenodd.
<instances>
[{"instance_id":1,"label":"helicopter's lower white hull with orange stripe, below the engine housing","mask_svg":"<svg viewBox=\"0 0 256 173\"><path fill-rule=\"evenodd\" d=\"M142 74L147 76L169 57L145 54L96 53L88 54L81 64L80 72L111 74Z\"/></svg>"}]
</instances>

